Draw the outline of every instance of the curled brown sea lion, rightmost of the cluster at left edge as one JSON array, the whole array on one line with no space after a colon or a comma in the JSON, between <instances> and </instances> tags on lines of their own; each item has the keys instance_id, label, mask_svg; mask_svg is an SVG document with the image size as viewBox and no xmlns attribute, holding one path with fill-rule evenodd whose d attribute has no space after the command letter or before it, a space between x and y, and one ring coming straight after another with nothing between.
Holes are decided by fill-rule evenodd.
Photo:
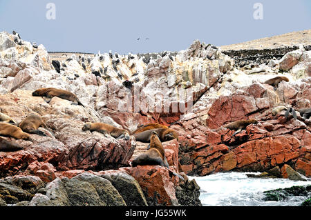
<instances>
[{"instance_id":1,"label":"curled brown sea lion, rightmost of the cluster at left edge","mask_svg":"<svg viewBox=\"0 0 311 220\"><path fill-rule=\"evenodd\" d=\"M23 121L19 123L19 128L21 128L23 132L27 132L30 134L38 134L40 136L46 136L44 132L38 130L38 128L41 126L44 127L46 130L48 130L49 132L51 132L48 126L46 126L46 123L44 123L42 118L37 114L29 114L28 117L26 117L26 119L23 119Z\"/></svg>"}]
</instances>

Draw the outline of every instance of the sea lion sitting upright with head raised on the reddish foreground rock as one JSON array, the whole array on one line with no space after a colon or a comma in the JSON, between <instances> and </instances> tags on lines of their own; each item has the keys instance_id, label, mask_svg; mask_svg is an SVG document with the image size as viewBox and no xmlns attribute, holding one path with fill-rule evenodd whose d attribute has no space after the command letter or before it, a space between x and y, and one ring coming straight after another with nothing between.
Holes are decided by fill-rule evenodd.
<instances>
[{"instance_id":1,"label":"sea lion sitting upright with head raised on the reddish foreground rock","mask_svg":"<svg viewBox=\"0 0 311 220\"><path fill-rule=\"evenodd\" d=\"M132 167L143 165L160 165L169 169L169 163L167 163L167 158L165 157L165 152L163 145L158 137L158 133L153 131L151 132L149 150L138 155L132 161ZM171 170L169 170L171 171ZM175 176L180 179L184 179L180 174L171 171Z\"/></svg>"}]
</instances>

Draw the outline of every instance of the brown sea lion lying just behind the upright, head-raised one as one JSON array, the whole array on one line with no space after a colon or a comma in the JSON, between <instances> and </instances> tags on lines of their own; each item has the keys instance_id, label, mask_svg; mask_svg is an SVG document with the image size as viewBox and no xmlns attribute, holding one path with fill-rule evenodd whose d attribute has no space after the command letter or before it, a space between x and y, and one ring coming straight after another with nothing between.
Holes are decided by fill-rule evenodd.
<instances>
[{"instance_id":1,"label":"brown sea lion lying just behind the upright, head-raised one","mask_svg":"<svg viewBox=\"0 0 311 220\"><path fill-rule=\"evenodd\" d=\"M133 134L136 141L141 141L144 143L149 143L151 139L152 132L156 132L160 137L161 141L170 141L172 139L178 139L178 132L176 130L170 128L156 128L156 129L149 129L145 130L140 133Z\"/></svg>"}]
</instances>

